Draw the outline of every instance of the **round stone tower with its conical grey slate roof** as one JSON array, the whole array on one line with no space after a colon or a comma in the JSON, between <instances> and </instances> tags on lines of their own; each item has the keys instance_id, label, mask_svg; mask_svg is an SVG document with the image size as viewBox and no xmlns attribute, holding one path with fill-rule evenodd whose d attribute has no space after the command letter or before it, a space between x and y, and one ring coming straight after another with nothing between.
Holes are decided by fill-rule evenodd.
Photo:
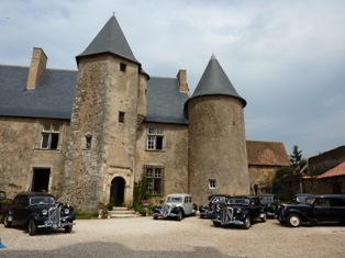
<instances>
[{"instance_id":1,"label":"round stone tower with its conical grey slate roof","mask_svg":"<svg viewBox=\"0 0 345 258\"><path fill-rule=\"evenodd\" d=\"M212 55L185 104L189 120L188 186L198 204L214 193L249 193L245 105Z\"/></svg>"}]
</instances>

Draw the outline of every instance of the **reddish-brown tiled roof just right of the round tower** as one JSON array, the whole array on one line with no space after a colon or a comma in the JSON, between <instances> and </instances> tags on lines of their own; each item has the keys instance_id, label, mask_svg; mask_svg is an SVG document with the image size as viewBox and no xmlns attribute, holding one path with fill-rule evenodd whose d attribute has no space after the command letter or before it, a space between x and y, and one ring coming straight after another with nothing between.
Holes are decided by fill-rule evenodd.
<instances>
[{"instance_id":1,"label":"reddish-brown tiled roof just right of the round tower","mask_svg":"<svg viewBox=\"0 0 345 258\"><path fill-rule=\"evenodd\" d=\"M289 156L282 143L247 141L248 165L290 166Z\"/></svg>"}]
</instances>

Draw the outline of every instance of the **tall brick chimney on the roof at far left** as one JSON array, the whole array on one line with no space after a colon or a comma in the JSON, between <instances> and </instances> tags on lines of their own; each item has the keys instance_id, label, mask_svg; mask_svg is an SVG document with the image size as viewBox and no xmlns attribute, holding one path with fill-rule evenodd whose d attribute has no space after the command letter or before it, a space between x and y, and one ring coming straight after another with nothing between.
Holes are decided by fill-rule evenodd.
<instances>
[{"instance_id":1,"label":"tall brick chimney on the roof at far left","mask_svg":"<svg viewBox=\"0 0 345 258\"><path fill-rule=\"evenodd\" d=\"M42 48L34 47L29 69L29 77L26 83L27 90L34 90L36 88L36 83L45 70L47 59L48 58Z\"/></svg>"}]
</instances>

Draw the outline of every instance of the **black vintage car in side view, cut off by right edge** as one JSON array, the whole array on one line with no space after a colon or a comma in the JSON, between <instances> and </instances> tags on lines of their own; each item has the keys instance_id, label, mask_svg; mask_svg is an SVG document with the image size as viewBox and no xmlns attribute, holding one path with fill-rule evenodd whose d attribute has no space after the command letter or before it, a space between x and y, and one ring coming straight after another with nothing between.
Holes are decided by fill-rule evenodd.
<instances>
[{"instance_id":1,"label":"black vintage car in side view, cut off by right edge","mask_svg":"<svg viewBox=\"0 0 345 258\"><path fill-rule=\"evenodd\" d=\"M281 224L298 227L302 222L340 222L345 224L345 195L321 194L312 195L300 204L283 204L277 220Z\"/></svg>"}]
</instances>

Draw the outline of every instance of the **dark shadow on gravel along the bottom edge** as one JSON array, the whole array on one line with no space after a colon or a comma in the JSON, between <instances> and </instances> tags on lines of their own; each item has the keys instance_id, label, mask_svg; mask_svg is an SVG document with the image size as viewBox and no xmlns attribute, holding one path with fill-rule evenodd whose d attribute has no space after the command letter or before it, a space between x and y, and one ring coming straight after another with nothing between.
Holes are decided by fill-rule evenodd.
<instances>
[{"instance_id":1,"label":"dark shadow on gravel along the bottom edge","mask_svg":"<svg viewBox=\"0 0 345 258\"><path fill-rule=\"evenodd\" d=\"M44 248L44 247L43 247ZM127 247L120 244L112 243L85 243L67 246L59 249L53 250L10 250L1 249L0 257L82 257L82 258L108 258L108 257L121 257L121 258L146 258L146 257L159 257L159 258L210 258L210 257L220 257L220 258L238 258L234 256L225 256L219 253L214 248L210 247L199 247L193 251L155 251L155 250L132 250Z\"/></svg>"}]
</instances>

